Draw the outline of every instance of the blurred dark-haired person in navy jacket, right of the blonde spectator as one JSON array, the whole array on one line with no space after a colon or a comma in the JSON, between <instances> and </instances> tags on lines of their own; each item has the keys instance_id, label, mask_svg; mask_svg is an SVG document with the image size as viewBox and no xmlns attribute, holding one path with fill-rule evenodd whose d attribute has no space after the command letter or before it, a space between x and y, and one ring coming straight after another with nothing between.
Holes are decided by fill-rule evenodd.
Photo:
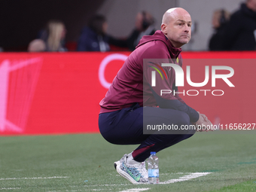
<instances>
[{"instance_id":1,"label":"blurred dark-haired person in navy jacket, right of the blonde spectator","mask_svg":"<svg viewBox=\"0 0 256 192\"><path fill-rule=\"evenodd\" d=\"M108 23L104 16L95 15L85 26L78 40L78 51L108 51Z\"/></svg>"}]
</instances>

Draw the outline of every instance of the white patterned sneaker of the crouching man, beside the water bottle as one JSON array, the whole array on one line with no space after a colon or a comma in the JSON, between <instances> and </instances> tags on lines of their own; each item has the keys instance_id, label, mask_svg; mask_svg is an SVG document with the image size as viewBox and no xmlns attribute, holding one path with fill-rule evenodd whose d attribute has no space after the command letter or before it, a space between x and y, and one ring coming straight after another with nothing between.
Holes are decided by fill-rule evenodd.
<instances>
[{"instance_id":1,"label":"white patterned sneaker of the crouching man, beside the water bottle","mask_svg":"<svg viewBox=\"0 0 256 192\"><path fill-rule=\"evenodd\" d=\"M133 160L133 163L128 164L127 158L128 155L124 154L120 160L114 162L114 168L117 169L117 172L133 184L147 183L148 171L145 162Z\"/></svg>"}]
</instances>

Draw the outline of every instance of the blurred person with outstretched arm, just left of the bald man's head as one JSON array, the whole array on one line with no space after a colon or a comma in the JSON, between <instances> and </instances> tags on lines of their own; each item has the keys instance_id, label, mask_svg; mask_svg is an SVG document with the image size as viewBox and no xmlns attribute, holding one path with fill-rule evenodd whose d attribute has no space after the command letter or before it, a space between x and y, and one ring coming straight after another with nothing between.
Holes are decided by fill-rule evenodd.
<instances>
[{"instance_id":1,"label":"blurred person with outstretched arm, just left of the bald man's head","mask_svg":"<svg viewBox=\"0 0 256 192\"><path fill-rule=\"evenodd\" d=\"M137 44L144 35L153 35L154 18L147 11L139 12L136 16L136 28L133 29L132 34L126 39L109 38L109 44L118 47L128 47L129 50L135 50Z\"/></svg>"}]
</instances>

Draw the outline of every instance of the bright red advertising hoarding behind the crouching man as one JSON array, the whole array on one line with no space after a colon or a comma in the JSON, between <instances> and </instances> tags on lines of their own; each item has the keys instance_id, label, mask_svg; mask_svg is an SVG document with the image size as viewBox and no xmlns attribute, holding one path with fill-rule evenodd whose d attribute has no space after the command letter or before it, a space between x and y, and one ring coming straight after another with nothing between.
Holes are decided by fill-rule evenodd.
<instances>
[{"instance_id":1,"label":"bright red advertising hoarding behind the crouching man","mask_svg":"<svg viewBox=\"0 0 256 192\"><path fill-rule=\"evenodd\" d=\"M97 133L99 102L130 52L121 53L1 53L0 54L0 135ZM229 59L235 71L235 87L220 85L221 96L184 85L183 99L206 114L212 123L255 123L254 52L182 53L186 59ZM234 59L230 63L230 59ZM247 59L247 63L241 63ZM222 60L223 61L223 60ZM187 62L188 63L188 62ZM191 81L201 82L205 66L197 72L191 66ZM221 66L223 66L221 64ZM219 81L219 80L218 80ZM216 80L216 84L218 83ZM222 82L223 83L223 82ZM218 83L220 84L220 83ZM209 85L204 90L213 89ZM209 86L209 87L207 87ZM225 87L226 86L226 87ZM201 90L203 90L201 89ZM193 90L199 90L201 95ZM226 91L227 90L227 91ZM218 91L214 92L219 94ZM237 121L237 122L235 122Z\"/></svg>"}]
</instances>

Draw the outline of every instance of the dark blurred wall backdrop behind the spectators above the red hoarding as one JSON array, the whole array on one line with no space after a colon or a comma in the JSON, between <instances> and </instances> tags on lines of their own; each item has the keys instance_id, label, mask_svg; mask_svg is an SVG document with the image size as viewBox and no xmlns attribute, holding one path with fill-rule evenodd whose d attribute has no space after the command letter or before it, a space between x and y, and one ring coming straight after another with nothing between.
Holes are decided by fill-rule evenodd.
<instances>
[{"instance_id":1,"label":"dark blurred wall backdrop behind the spectators above the red hoarding","mask_svg":"<svg viewBox=\"0 0 256 192\"><path fill-rule=\"evenodd\" d=\"M126 37L135 25L139 11L150 12L156 20L155 27L160 29L163 13L168 8L186 9L197 29L194 30L190 44L184 50L207 50L212 35L212 14L216 9L224 8L231 13L239 8L242 0L45 0L45 1L8 1L0 2L2 19L0 20L0 47L4 50L27 50L30 41L36 38L48 20L58 19L66 24L66 42L78 41L81 29L93 14L103 14L108 20L108 33L117 37Z\"/></svg>"}]
</instances>

